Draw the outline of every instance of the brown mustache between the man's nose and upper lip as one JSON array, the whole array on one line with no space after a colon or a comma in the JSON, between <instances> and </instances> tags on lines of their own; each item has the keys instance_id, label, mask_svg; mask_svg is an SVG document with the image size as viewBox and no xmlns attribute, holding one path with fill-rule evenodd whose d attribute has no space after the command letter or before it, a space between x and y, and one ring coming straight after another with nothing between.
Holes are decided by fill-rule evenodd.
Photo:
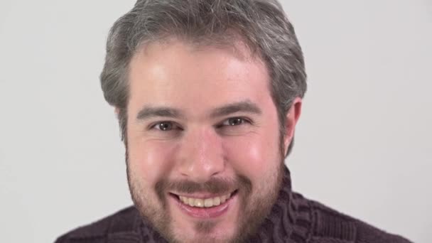
<instances>
[{"instance_id":1,"label":"brown mustache between the man's nose and upper lip","mask_svg":"<svg viewBox=\"0 0 432 243\"><path fill-rule=\"evenodd\" d=\"M167 191L175 193L210 193L227 194L233 190L242 190L249 194L252 191L252 182L244 175L237 175L234 179L229 178L210 178L205 183L197 183L192 180L159 180L155 185L156 193L159 198Z\"/></svg>"}]
</instances>

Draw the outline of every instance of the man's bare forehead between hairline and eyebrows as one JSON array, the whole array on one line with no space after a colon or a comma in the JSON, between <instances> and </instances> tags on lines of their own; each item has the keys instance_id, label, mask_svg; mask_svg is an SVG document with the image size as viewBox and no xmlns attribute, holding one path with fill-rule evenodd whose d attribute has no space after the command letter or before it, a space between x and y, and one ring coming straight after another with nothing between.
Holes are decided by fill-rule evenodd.
<instances>
[{"instance_id":1,"label":"man's bare forehead between hairline and eyebrows","mask_svg":"<svg viewBox=\"0 0 432 243\"><path fill-rule=\"evenodd\" d=\"M144 46L129 66L129 111L164 105L205 112L245 99L270 97L269 74L244 45L196 46L183 41Z\"/></svg>"}]
</instances>

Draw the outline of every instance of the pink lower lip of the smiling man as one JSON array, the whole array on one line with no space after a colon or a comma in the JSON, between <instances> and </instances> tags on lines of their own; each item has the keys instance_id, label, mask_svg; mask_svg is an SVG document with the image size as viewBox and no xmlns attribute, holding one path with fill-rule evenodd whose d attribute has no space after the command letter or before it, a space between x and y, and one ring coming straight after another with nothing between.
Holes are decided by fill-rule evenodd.
<instances>
[{"instance_id":1,"label":"pink lower lip of the smiling man","mask_svg":"<svg viewBox=\"0 0 432 243\"><path fill-rule=\"evenodd\" d=\"M237 199L237 193L234 193L234 195L232 195L227 201L215 207L191 207L190 205L185 205L178 198L176 198L176 196L172 195L170 198L175 201L175 204L178 205L180 210L185 212L186 215L202 220L212 219L226 214L229 210L229 207L232 206L234 201Z\"/></svg>"}]
</instances>

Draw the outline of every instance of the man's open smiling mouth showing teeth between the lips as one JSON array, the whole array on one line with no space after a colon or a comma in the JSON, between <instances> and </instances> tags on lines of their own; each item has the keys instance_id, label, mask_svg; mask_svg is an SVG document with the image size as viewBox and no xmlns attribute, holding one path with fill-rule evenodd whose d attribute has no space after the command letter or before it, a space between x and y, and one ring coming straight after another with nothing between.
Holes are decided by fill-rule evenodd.
<instances>
[{"instance_id":1,"label":"man's open smiling mouth showing teeth between the lips","mask_svg":"<svg viewBox=\"0 0 432 243\"><path fill-rule=\"evenodd\" d=\"M207 208L225 205L236 194L237 190L234 190L232 193L227 193L225 195L220 195L212 198L193 198L170 193L171 197L180 202L182 205L195 208Z\"/></svg>"}]
</instances>

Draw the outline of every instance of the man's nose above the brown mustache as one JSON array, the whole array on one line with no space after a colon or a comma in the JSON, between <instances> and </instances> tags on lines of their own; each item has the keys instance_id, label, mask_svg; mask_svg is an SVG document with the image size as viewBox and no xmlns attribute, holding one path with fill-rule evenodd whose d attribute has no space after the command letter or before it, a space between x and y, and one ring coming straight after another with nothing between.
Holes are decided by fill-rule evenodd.
<instances>
[{"instance_id":1,"label":"man's nose above the brown mustache","mask_svg":"<svg viewBox=\"0 0 432 243\"><path fill-rule=\"evenodd\" d=\"M222 140L210 128L186 131L178 152L178 171L182 177L204 183L225 169Z\"/></svg>"}]
</instances>

